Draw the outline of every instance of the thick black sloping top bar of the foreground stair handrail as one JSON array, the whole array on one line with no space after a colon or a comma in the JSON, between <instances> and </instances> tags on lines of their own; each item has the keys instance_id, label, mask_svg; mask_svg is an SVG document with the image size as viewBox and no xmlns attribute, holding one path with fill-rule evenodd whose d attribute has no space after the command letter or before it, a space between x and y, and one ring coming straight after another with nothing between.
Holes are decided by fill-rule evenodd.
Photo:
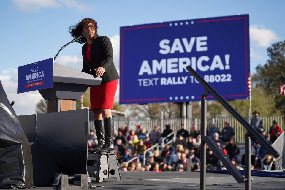
<instances>
[{"instance_id":1,"label":"thick black sloping top bar of the foreground stair handrail","mask_svg":"<svg viewBox=\"0 0 285 190\"><path fill-rule=\"evenodd\" d=\"M187 71L196 78L198 82L211 93L220 103L223 105L229 113L231 113L246 129L254 136L262 146L275 158L278 158L280 154L211 86L209 85L191 66L186 67ZM283 77L284 78L284 77ZM285 78L284 78L285 79ZM281 78L280 78L281 80ZM284 80L285 81L285 80Z\"/></svg>"}]
</instances>

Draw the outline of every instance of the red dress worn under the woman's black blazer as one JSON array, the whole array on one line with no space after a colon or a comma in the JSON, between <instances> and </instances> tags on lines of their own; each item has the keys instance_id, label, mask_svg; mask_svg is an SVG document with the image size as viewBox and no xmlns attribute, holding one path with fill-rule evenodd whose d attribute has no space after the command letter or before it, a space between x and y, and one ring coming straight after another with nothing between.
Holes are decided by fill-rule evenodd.
<instances>
[{"instance_id":1,"label":"red dress worn under the woman's black blazer","mask_svg":"<svg viewBox=\"0 0 285 190\"><path fill-rule=\"evenodd\" d=\"M91 62L90 52L91 52L91 45L87 44L85 56L86 59ZM94 75L96 71L94 71ZM103 74L106 75L106 74ZM94 108L101 108L101 109L112 109L113 110L113 103L115 93L117 91L118 86L118 79L107 82L101 83L99 86L92 86L90 87L90 110Z\"/></svg>"}]
</instances>

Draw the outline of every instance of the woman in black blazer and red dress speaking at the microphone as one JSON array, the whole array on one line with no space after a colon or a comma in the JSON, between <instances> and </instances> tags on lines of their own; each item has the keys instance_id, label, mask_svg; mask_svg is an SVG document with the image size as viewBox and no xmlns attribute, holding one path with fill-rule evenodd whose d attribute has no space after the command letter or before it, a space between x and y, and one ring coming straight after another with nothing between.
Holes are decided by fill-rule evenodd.
<instances>
[{"instance_id":1,"label":"woman in black blazer and red dress speaking at the microphone","mask_svg":"<svg viewBox=\"0 0 285 190\"><path fill-rule=\"evenodd\" d=\"M113 62L111 41L107 36L98 36L97 22L91 18L84 18L76 25L70 26L69 32L74 38L79 37L83 32L88 33L88 36L76 41L84 43L82 72L102 78L99 86L90 88L90 110L93 110L98 139L98 145L93 151L113 153L114 121L111 110L119 75Z\"/></svg>"}]
</instances>

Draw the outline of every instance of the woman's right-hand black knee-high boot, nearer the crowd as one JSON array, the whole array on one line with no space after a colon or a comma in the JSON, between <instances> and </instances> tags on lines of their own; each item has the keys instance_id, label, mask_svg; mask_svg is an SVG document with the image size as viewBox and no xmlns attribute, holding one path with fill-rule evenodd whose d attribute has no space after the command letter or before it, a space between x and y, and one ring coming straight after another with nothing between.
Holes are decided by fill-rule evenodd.
<instances>
[{"instance_id":1,"label":"woman's right-hand black knee-high boot, nearer the crowd","mask_svg":"<svg viewBox=\"0 0 285 190\"><path fill-rule=\"evenodd\" d=\"M113 143L113 138L114 138L114 121L113 121L113 118L105 118L104 119L104 129L105 129L105 145L98 150L94 150L94 152L114 153L115 148L114 148L114 143Z\"/></svg>"}]
</instances>

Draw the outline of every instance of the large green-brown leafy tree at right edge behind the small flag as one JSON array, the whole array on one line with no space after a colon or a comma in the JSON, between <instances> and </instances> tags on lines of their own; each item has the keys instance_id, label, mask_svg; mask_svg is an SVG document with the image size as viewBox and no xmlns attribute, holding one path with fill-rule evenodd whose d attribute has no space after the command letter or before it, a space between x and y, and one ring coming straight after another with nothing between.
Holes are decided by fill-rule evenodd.
<instances>
[{"instance_id":1,"label":"large green-brown leafy tree at right edge behind the small flag","mask_svg":"<svg viewBox=\"0 0 285 190\"><path fill-rule=\"evenodd\" d=\"M285 96L278 94L281 76L285 76L285 40L267 48L269 60L257 66L257 85L263 86L266 93L275 100L276 111L285 112Z\"/></svg>"}]
</instances>

